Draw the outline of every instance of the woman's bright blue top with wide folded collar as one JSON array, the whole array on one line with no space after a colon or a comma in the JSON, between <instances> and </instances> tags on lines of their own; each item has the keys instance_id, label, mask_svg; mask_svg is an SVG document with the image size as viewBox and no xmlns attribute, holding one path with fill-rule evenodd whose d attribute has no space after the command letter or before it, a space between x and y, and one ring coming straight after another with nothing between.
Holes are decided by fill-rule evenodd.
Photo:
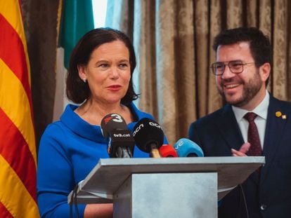
<instances>
[{"instance_id":1,"label":"woman's bright blue top with wide folded collar","mask_svg":"<svg viewBox=\"0 0 291 218\"><path fill-rule=\"evenodd\" d=\"M70 191L100 158L109 158L108 139L103 137L101 126L84 121L74 112L76 108L68 104L60 121L48 125L41 137L37 168L37 201L41 217L69 217L67 196ZM129 108L136 121L154 119L133 103ZM128 129L132 131L136 123L129 123ZM164 144L167 144L165 137ZM149 154L135 147L134 157L148 158ZM78 205L79 217L83 217L85 206ZM72 217L76 217L75 210L72 212Z\"/></svg>"}]
</instances>

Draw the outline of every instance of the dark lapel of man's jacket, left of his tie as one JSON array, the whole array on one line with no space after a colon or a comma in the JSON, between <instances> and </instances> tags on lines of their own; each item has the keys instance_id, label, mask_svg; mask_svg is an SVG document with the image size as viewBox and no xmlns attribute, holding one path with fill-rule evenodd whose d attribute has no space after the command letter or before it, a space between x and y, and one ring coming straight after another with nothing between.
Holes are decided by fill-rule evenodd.
<instances>
[{"instance_id":1,"label":"dark lapel of man's jacket, left of his tie","mask_svg":"<svg viewBox=\"0 0 291 218\"><path fill-rule=\"evenodd\" d=\"M233 114L233 109L231 109L231 105L226 104L221 116L217 118L216 125L219 134L224 137L229 149L239 150L243 144L243 136Z\"/></svg>"}]
</instances>

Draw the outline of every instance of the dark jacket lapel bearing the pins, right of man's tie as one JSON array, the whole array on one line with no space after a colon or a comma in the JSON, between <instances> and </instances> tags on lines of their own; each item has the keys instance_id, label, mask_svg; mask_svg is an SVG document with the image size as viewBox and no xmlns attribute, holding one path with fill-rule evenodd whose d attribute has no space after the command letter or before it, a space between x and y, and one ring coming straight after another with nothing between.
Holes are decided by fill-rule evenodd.
<instances>
[{"instance_id":1,"label":"dark jacket lapel bearing the pins, right of man's tie","mask_svg":"<svg viewBox=\"0 0 291 218\"><path fill-rule=\"evenodd\" d=\"M287 114L287 111L284 111L284 108L281 106L280 101L270 95L263 150L263 156L266 158L266 164L264 165L264 168L261 169L261 182L263 182L266 172L273 163L274 156L276 156L280 139L284 134L284 128L287 121L282 118L282 116L276 116L277 111L280 111L283 115Z\"/></svg>"}]
</instances>

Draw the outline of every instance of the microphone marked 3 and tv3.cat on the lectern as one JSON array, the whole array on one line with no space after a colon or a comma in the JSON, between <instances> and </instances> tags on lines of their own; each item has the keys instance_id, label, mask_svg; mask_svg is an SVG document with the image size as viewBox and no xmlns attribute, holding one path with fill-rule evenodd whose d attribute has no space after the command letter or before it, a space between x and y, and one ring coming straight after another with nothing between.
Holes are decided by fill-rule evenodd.
<instances>
[{"instance_id":1,"label":"microphone marked 3 and tv3.cat on the lectern","mask_svg":"<svg viewBox=\"0 0 291 218\"><path fill-rule=\"evenodd\" d=\"M110 158L132 158L134 137L127 129L127 123L119 114L108 114L101 121L103 137L109 137L108 154Z\"/></svg>"}]
</instances>

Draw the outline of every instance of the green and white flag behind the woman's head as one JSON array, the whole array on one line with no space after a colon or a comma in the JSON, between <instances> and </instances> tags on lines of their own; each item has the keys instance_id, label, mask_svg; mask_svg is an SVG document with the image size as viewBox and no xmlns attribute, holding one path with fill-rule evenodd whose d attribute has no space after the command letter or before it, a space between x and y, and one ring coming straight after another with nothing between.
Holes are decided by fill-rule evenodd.
<instances>
[{"instance_id":1,"label":"green and white flag behind the woman's head","mask_svg":"<svg viewBox=\"0 0 291 218\"><path fill-rule=\"evenodd\" d=\"M53 121L60 118L68 100L65 96L65 74L72 49L79 39L94 29L91 0L63 0L58 8L58 48L56 53L56 93Z\"/></svg>"}]
</instances>

